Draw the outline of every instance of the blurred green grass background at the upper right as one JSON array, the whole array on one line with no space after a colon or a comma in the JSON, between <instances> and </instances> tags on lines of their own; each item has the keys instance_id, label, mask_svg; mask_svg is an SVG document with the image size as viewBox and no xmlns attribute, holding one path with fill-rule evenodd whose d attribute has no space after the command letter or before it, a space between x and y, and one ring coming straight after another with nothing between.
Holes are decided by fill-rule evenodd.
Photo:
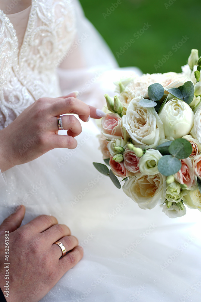
<instances>
[{"instance_id":1,"label":"blurred green grass background at the upper right","mask_svg":"<svg viewBox=\"0 0 201 302\"><path fill-rule=\"evenodd\" d=\"M80 2L86 17L102 34L121 67L138 66L145 73L180 72L192 48L200 50L201 56L199 15L201 0L165 2L80 0ZM144 23L151 26L137 39L137 31L143 29ZM179 43L183 36L189 39L185 43ZM135 42L123 54L118 54L120 48L130 39L134 39ZM174 46L175 44L177 46ZM163 59L161 67L155 67L159 66L159 60L161 61L169 51L173 55L166 62Z\"/></svg>"}]
</instances>

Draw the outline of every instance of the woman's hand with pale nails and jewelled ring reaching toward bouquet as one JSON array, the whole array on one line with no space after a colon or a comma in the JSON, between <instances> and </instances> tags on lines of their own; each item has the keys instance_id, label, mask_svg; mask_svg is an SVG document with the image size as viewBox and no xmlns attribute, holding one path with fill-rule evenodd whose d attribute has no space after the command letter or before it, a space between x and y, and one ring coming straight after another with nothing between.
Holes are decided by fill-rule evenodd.
<instances>
[{"instance_id":1,"label":"woman's hand with pale nails and jewelled ring reaching toward bouquet","mask_svg":"<svg viewBox=\"0 0 201 302\"><path fill-rule=\"evenodd\" d=\"M76 148L74 137L82 131L80 122L73 115L62 116L62 126L68 130L68 136L58 135L57 116L73 113L86 122L89 117L100 118L100 115L95 107L86 105L75 96L71 93L60 98L40 98L0 131L2 172L30 162L51 149Z\"/></svg>"}]
</instances>

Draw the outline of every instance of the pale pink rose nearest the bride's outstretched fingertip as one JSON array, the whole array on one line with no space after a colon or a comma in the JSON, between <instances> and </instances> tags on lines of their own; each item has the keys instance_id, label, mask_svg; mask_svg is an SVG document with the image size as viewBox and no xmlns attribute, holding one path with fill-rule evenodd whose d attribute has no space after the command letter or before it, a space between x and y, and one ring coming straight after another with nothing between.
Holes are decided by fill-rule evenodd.
<instances>
[{"instance_id":1,"label":"pale pink rose nearest the bride's outstretched fingertip","mask_svg":"<svg viewBox=\"0 0 201 302\"><path fill-rule=\"evenodd\" d=\"M108 113L102 118L103 134L107 134L118 137L125 137L126 130L123 129L122 119L115 113ZM108 137L108 136L107 136ZM109 137L111 138L111 137Z\"/></svg>"}]
</instances>

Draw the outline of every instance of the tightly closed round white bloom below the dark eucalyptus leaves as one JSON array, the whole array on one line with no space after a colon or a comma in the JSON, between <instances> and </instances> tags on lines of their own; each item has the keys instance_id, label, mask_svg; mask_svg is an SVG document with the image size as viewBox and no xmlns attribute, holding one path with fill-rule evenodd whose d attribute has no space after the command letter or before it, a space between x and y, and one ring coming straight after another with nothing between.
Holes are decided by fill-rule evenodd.
<instances>
[{"instance_id":1,"label":"tightly closed round white bloom below the dark eucalyptus leaves","mask_svg":"<svg viewBox=\"0 0 201 302\"><path fill-rule=\"evenodd\" d=\"M184 101L176 98L165 104L159 117L164 125L165 137L180 138L189 134L193 127L192 109Z\"/></svg>"}]
</instances>

